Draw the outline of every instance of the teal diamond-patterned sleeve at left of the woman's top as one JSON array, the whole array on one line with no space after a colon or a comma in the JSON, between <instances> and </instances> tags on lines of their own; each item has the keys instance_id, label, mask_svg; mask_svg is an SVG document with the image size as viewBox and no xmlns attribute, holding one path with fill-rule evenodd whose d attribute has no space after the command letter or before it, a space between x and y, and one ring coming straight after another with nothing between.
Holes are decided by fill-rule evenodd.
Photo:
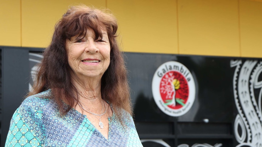
<instances>
[{"instance_id":1,"label":"teal diamond-patterned sleeve at left of the woman's top","mask_svg":"<svg viewBox=\"0 0 262 147\"><path fill-rule=\"evenodd\" d=\"M6 138L5 147L40 147L43 146L41 139L43 134L39 133L40 115L38 111L25 109L20 106L14 113L9 132ZM27 107L28 108L28 107Z\"/></svg>"}]
</instances>

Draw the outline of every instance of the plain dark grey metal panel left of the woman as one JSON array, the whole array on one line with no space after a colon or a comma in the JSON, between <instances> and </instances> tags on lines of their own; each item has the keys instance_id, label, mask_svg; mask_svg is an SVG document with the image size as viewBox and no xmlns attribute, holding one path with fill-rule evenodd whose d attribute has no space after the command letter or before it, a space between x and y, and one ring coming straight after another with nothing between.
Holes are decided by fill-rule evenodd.
<instances>
[{"instance_id":1,"label":"plain dark grey metal panel left of the woman","mask_svg":"<svg viewBox=\"0 0 262 147\"><path fill-rule=\"evenodd\" d=\"M10 120L28 91L29 51L2 48L2 135L4 146Z\"/></svg>"}]
</instances>

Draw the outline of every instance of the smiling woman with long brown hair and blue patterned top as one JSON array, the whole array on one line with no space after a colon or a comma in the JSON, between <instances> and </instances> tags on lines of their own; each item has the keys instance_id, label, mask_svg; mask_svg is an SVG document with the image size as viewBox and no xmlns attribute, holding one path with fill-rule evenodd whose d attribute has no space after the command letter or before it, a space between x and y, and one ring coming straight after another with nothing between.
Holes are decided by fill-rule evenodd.
<instances>
[{"instance_id":1,"label":"smiling woman with long brown hair and blue patterned top","mask_svg":"<svg viewBox=\"0 0 262 147\"><path fill-rule=\"evenodd\" d=\"M111 14L68 9L33 91L13 115L6 146L142 146L116 31Z\"/></svg>"}]
</instances>

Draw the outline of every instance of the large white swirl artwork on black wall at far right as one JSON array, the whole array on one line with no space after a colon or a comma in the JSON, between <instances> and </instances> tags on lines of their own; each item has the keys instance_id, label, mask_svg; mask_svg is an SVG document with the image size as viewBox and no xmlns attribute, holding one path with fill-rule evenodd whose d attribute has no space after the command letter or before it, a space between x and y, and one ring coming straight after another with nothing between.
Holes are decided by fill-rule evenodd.
<instances>
[{"instance_id":1,"label":"large white swirl artwork on black wall at far right","mask_svg":"<svg viewBox=\"0 0 262 147\"><path fill-rule=\"evenodd\" d=\"M239 143L236 147L262 147L262 62L231 60L230 66L235 68L233 90L238 114L234 134Z\"/></svg>"}]
</instances>

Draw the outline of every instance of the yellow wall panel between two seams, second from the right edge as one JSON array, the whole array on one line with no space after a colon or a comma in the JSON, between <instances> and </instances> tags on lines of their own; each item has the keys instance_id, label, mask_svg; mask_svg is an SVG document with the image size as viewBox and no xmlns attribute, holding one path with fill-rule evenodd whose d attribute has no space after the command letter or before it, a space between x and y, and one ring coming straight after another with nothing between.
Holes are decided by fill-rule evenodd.
<instances>
[{"instance_id":1,"label":"yellow wall panel between two seams, second from the right edge","mask_svg":"<svg viewBox=\"0 0 262 147\"><path fill-rule=\"evenodd\" d=\"M237 0L178 0L179 53L240 56Z\"/></svg>"}]
</instances>

